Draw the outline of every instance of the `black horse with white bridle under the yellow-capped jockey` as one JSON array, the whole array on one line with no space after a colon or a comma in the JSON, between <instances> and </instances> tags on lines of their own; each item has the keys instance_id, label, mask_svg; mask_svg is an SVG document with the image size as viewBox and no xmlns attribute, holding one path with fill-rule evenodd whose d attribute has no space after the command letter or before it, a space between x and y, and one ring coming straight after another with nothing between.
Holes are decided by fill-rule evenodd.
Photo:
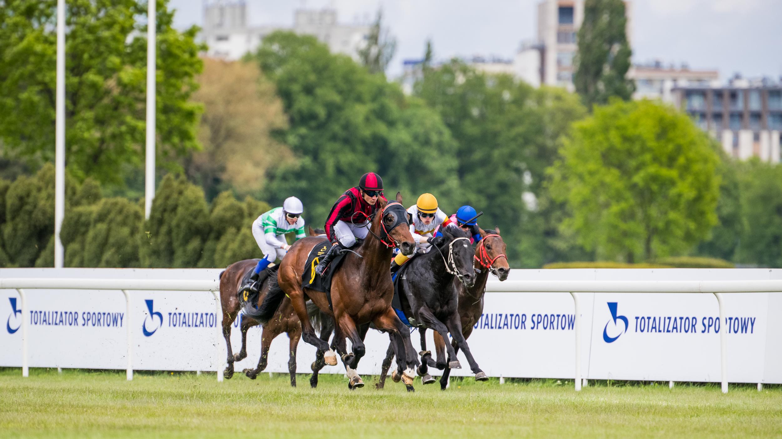
<instances>
[{"instance_id":1,"label":"black horse with white bridle under the yellow-capped jockey","mask_svg":"<svg viewBox=\"0 0 782 439\"><path fill-rule=\"evenodd\" d=\"M445 227L441 230L443 239L435 238L429 252L415 256L400 269L396 283L402 312L415 327L431 328L443 337L450 333L454 337L454 343L465 352L472 373L475 373L475 380L486 381L489 378L472 358L467 341L462 337L461 318L458 313L456 285L472 287L475 283L475 268L472 262L475 251L470 244L469 234L464 230L458 227ZM450 344L447 348L450 368L461 369L454 348ZM392 344L386 352L378 389L385 385L386 373L394 355ZM431 358L431 354L422 348L421 359L424 362L418 368L421 377L427 376L428 357ZM396 376L393 378L396 380ZM434 382L432 377L429 377L429 382ZM424 380L424 384L429 383ZM408 385L407 390L411 391L411 386Z\"/></svg>"}]
</instances>

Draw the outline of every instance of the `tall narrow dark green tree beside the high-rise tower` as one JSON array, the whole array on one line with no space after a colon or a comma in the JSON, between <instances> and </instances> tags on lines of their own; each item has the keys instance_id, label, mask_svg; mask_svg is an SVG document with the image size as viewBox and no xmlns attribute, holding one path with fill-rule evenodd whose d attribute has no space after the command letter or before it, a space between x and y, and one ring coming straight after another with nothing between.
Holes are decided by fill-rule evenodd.
<instances>
[{"instance_id":1,"label":"tall narrow dark green tree beside the high-rise tower","mask_svg":"<svg viewBox=\"0 0 782 439\"><path fill-rule=\"evenodd\" d=\"M586 0L578 34L573 84L591 109L612 96L627 101L635 84L626 77L633 51L627 42L627 17L622 0Z\"/></svg>"}]
</instances>

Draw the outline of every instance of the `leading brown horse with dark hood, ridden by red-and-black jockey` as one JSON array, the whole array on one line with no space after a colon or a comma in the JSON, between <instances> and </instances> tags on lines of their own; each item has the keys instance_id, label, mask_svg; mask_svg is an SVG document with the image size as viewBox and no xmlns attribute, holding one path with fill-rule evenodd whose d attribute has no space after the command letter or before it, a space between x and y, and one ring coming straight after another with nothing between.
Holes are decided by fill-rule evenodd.
<instances>
[{"instance_id":1,"label":"leading brown horse with dark hood, ridden by red-and-black jockey","mask_svg":"<svg viewBox=\"0 0 782 439\"><path fill-rule=\"evenodd\" d=\"M279 291L272 290L264 300L269 302L267 308L271 309L274 301L282 300L284 295L289 296L293 309L301 320L304 341L314 345L319 354L325 352L327 362L329 359L335 360L336 356L329 348L328 342L315 336L310 319L307 318L307 298L321 311L334 317L335 334L332 346L342 356L350 377L350 389L364 387L364 382L355 369L366 352L362 334L357 329L365 323L374 323L378 330L389 331L396 343L397 352L404 352L405 358L397 358L397 367L404 371L403 380L412 383L413 369L420 364L410 341L410 332L391 308L393 284L389 261L392 248L400 248L404 255L410 255L415 248L407 211L402 205L402 196L399 193L396 194L396 202L378 200L378 203L380 209L368 225L370 229L367 237L360 246L353 248L355 253L351 252L345 256L342 266L334 273L332 306L329 305L325 293L302 286L303 273L311 269L305 266L307 256L316 244L323 242L322 238L314 237L306 237L293 244L280 264ZM346 337L350 338L353 352L347 352Z\"/></svg>"}]
</instances>

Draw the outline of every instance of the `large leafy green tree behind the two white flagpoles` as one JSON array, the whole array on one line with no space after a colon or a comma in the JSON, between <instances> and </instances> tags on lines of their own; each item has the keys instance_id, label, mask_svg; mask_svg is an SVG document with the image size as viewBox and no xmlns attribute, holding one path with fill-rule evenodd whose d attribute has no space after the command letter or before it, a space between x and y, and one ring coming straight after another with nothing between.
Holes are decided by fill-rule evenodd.
<instances>
[{"instance_id":1,"label":"large leafy green tree behind the two white flagpoles","mask_svg":"<svg viewBox=\"0 0 782 439\"><path fill-rule=\"evenodd\" d=\"M66 4L66 155L78 180L121 184L145 142L146 2ZM157 0L157 156L162 165L197 147L199 105L188 102L201 69L197 27L174 30ZM0 144L40 166L55 143L56 0L0 0Z\"/></svg>"}]
</instances>

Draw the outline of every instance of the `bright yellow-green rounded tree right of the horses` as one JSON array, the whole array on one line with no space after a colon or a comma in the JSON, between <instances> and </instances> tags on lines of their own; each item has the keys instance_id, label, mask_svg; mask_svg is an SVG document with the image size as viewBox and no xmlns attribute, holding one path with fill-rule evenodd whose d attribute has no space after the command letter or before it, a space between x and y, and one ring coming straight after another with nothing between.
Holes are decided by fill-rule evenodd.
<instances>
[{"instance_id":1,"label":"bright yellow-green rounded tree right of the horses","mask_svg":"<svg viewBox=\"0 0 782 439\"><path fill-rule=\"evenodd\" d=\"M564 223L599 259L687 252L717 222L719 155L675 109L654 102L595 107L576 123L551 170Z\"/></svg>"}]
</instances>

